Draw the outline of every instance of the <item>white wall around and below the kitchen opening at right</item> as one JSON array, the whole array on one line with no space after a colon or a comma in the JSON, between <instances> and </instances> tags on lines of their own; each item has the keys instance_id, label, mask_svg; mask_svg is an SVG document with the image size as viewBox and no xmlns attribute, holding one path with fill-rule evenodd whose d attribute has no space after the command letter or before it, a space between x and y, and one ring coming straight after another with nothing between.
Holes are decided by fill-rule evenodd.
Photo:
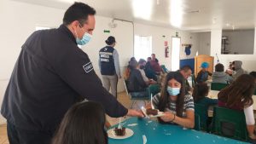
<instances>
[{"instance_id":1,"label":"white wall around and below the kitchen opening at right","mask_svg":"<svg viewBox=\"0 0 256 144\"><path fill-rule=\"evenodd\" d=\"M229 62L233 60L241 60L242 67L247 72L256 71L256 46L254 43L254 54L252 55L221 55L221 37L222 30L211 31L211 55L214 56L214 65L217 63L216 54L218 55L220 63L223 63L225 68L229 66ZM255 42L255 37L254 37Z\"/></svg>"}]
</instances>

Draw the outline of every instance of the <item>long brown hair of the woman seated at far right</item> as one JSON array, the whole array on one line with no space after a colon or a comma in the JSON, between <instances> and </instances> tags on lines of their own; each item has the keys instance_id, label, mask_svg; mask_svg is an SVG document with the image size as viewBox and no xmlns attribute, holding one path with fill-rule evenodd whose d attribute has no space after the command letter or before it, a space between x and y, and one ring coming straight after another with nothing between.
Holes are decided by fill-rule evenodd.
<instances>
[{"instance_id":1,"label":"long brown hair of the woman seated at far right","mask_svg":"<svg viewBox=\"0 0 256 144\"><path fill-rule=\"evenodd\" d=\"M248 74L242 74L236 81L220 90L218 100L226 103L227 107L234 107L241 103L241 108L253 105L254 79Z\"/></svg>"}]
</instances>

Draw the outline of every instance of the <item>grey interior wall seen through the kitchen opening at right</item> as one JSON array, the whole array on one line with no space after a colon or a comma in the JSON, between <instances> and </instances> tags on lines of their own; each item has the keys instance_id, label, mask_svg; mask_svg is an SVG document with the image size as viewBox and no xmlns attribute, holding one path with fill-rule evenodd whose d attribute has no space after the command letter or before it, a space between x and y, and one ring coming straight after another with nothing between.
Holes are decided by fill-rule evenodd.
<instances>
[{"instance_id":1,"label":"grey interior wall seen through the kitchen opening at right","mask_svg":"<svg viewBox=\"0 0 256 144\"><path fill-rule=\"evenodd\" d=\"M253 54L254 30L224 31L222 36L228 37L230 54Z\"/></svg>"}]
</instances>

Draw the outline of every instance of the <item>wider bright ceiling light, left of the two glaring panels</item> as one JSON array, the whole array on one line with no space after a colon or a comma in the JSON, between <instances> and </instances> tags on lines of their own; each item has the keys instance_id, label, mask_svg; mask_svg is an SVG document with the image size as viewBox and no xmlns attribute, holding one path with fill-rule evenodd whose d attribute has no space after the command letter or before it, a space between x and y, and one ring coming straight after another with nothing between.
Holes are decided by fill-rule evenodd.
<instances>
[{"instance_id":1,"label":"wider bright ceiling light, left of the two glaring panels","mask_svg":"<svg viewBox=\"0 0 256 144\"><path fill-rule=\"evenodd\" d=\"M133 0L132 9L136 18L150 20L153 9L153 0Z\"/></svg>"}]
</instances>

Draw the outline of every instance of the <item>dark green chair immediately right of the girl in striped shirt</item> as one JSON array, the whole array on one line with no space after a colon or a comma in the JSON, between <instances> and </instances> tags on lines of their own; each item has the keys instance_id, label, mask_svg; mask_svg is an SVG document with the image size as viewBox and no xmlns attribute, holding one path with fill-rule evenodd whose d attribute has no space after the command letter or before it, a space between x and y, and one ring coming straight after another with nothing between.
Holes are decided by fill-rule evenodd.
<instances>
[{"instance_id":1,"label":"dark green chair immediately right of the girl in striped shirt","mask_svg":"<svg viewBox=\"0 0 256 144\"><path fill-rule=\"evenodd\" d=\"M204 105L194 104L195 105L195 114L200 117L200 130L209 131L207 128L207 118L208 118L208 109Z\"/></svg>"}]
</instances>

